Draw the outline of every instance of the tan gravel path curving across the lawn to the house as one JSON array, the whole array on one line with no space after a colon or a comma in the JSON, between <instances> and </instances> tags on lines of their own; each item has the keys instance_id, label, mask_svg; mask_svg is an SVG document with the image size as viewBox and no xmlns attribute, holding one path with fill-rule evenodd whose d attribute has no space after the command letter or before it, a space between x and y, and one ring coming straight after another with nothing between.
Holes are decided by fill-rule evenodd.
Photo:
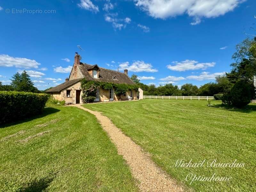
<instances>
[{"instance_id":1,"label":"tan gravel path curving across the lawn to the house","mask_svg":"<svg viewBox=\"0 0 256 192\"><path fill-rule=\"evenodd\" d=\"M140 181L141 191L184 191L175 180L171 179L151 160L143 149L135 144L129 137L114 125L110 119L100 112L92 111L81 105L73 105L95 115L102 128L108 133L112 142L116 145L119 155L122 155L132 170L132 175Z\"/></svg>"}]
</instances>

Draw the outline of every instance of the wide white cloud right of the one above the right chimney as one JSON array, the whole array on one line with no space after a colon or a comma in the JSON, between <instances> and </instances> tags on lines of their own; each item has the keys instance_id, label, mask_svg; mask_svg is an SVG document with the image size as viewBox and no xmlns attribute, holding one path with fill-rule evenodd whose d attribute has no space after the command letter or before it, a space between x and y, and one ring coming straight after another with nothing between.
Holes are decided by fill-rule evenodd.
<instances>
[{"instance_id":1,"label":"wide white cloud right of the one above the right chimney","mask_svg":"<svg viewBox=\"0 0 256 192\"><path fill-rule=\"evenodd\" d=\"M196 69L207 69L208 67L214 67L215 62L211 63L199 63L195 60L185 60L181 62L174 61L174 65L167 65L167 68L173 71L187 71L187 70L196 70Z\"/></svg>"}]
</instances>

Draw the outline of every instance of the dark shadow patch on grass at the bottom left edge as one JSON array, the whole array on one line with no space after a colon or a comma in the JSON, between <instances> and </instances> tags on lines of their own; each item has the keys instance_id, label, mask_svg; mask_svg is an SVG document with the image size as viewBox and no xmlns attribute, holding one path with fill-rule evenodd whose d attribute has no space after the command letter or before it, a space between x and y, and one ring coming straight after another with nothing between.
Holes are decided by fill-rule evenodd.
<instances>
[{"instance_id":1,"label":"dark shadow patch on grass at the bottom left edge","mask_svg":"<svg viewBox=\"0 0 256 192\"><path fill-rule=\"evenodd\" d=\"M41 192L46 191L45 189L51 184L55 176L50 178L43 178L40 180L34 180L30 183L27 183L25 187L21 187L17 192Z\"/></svg>"}]
</instances>

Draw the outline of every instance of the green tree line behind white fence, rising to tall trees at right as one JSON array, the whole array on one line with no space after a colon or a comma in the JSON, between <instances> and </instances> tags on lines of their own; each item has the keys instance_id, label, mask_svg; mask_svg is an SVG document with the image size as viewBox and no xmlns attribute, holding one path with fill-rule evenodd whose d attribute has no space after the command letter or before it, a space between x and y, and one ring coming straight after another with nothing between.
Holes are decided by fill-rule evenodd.
<instances>
[{"instance_id":1,"label":"green tree line behind white fence, rising to tall trees at right","mask_svg":"<svg viewBox=\"0 0 256 192\"><path fill-rule=\"evenodd\" d=\"M230 65L232 70L229 73L224 76L217 76L215 82L206 83L199 88L193 84L184 84L180 89L177 85L172 84L156 87L154 84L141 83L138 76L134 74L131 78L140 86L144 95L213 96L221 93L226 96L227 103L234 94L237 98L248 95L247 101L254 99L256 94L256 38L246 38L237 44L232 59L235 62ZM237 85L234 87L235 84ZM240 95L237 95L238 93Z\"/></svg>"}]
</instances>

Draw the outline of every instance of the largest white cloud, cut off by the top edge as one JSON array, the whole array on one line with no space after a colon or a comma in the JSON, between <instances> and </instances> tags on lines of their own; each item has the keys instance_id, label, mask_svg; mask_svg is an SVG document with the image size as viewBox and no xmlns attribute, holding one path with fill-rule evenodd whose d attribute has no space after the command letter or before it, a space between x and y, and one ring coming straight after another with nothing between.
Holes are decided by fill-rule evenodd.
<instances>
[{"instance_id":1,"label":"largest white cloud, cut off by the top edge","mask_svg":"<svg viewBox=\"0 0 256 192\"><path fill-rule=\"evenodd\" d=\"M136 6L148 12L151 17L165 19L188 14L195 22L200 18L214 18L234 10L245 0L134 0Z\"/></svg>"}]
</instances>

